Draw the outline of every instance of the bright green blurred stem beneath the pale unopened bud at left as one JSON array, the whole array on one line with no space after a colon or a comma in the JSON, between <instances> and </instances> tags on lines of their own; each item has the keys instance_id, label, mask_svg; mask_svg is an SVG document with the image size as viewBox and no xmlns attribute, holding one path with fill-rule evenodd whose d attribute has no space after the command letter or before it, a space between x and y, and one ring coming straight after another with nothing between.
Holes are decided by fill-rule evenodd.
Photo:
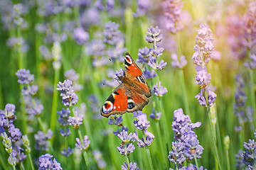
<instances>
[{"instance_id":1,"label":"bright green blurred stem beneath the pale unopened bud at left","mask_svg":"<svg viewBox=\"0 0 256 170\"><path fill-rule=\"evenodd\" d=\"M50 116L50 129L54 132L55 125L56 125L56 114L57 114L57 105L58 105L58 91L56 86L58 84L60 77L60 70L55 69L54 72L54 82L53 82L53 104L52 104L52 111Z\"/></svg>"}]
</instances>

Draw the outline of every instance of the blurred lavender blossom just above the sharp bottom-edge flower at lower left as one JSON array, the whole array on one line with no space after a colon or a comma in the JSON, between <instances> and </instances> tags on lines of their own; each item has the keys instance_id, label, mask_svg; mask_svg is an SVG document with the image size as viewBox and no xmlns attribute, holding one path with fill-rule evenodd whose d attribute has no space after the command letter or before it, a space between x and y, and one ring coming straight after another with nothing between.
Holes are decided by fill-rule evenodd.
<instances>
[{"instance_id":1,"label":"blurred lavender blossom just above the sharp bottom-edge flower at lower left","mask_svg":"<svg viewBox=\"0 0 256 170\"><path fill-rule=\"evenodd\" d=\"M47 151L48 150L48 140L53 136L53 132L49 129L46 135L38 131L35 134L35 140L36 140L36 149L37 150L42 150L42 151Z\"/></svg>"}]
</instances>

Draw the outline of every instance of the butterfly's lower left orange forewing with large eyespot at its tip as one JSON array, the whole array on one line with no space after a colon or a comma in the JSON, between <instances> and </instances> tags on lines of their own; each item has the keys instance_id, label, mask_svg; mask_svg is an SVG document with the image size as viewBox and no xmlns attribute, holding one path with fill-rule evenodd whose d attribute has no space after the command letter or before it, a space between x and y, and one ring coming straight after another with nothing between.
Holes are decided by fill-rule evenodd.
<instances>
[{"instance_id":1,"label":"butterfly's lower left orange forewing with large eyespot at its tip","mask_svg":"<svg viewBox=\"0 0 256 170\"><path fill-rule=\"evenodd\" d=\"M109 117L114 114L124 114L127 112L127 92L124 88L124 84L117 86L112 94L107 98L104 105L101 108L101 115Z\"/></svg>"}]
</instances>

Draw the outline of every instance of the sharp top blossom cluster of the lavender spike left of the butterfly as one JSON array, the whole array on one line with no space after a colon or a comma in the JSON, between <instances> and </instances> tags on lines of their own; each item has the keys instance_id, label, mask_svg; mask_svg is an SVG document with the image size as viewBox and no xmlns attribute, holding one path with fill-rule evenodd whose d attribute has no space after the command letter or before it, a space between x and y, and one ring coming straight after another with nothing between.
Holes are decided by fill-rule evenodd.
<instances>
[{"instance_id":1,"label":"sharp top blossom cluster of the lavender spike left of the butterfly","mask_svg":"<svg viewBox=\"0 0 256 170\"><path fill-rule=\"evenodd\" d=\"M63 83L59 81L57 84L57 90L60 91L64 106L71 106L78 103L78 95L74 93L72 84L72 81L69 79L65 80Z\"/></svg>"}]
</instances>

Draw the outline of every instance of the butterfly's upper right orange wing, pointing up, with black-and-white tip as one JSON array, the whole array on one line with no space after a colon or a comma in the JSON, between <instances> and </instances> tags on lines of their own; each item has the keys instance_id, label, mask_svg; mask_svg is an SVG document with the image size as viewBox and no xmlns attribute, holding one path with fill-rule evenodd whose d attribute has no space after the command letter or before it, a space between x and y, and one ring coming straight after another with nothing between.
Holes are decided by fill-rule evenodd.
<instances>
[{"instance_id":1,"label":"butterfly's upper right orange wing, pointing up, with black-and-white tip","mask_svg":"<svg viewBox=\"0 0 256 170\"><path fill-rule=\"evenodd\" d=\"M129 86L135 87L134 90L137 91L138 94L144 94L149 98L151 96L149 85L146 83L146 80L142 76L142 70L139 69L128 52L125 54L124 58L124 69L127 72L127 78L129 79L127 84Z\"/></svg>"}]
</instances>

